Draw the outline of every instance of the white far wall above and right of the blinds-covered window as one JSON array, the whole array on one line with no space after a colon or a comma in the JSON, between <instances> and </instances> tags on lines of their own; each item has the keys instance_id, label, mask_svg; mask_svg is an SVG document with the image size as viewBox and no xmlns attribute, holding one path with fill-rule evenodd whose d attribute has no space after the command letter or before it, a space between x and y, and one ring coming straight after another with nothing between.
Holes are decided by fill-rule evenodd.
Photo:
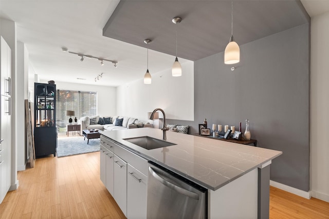
<instances>
[{"instance_id":1,"label":"white far wall above and right of the blinds-covered window","mask_svg":"<svg viewBox=\"0 0 329 219\"><path fill-rule=\"evenodd\" d=\"M40 83L48 83L40 81ZM80 90L97 92L97 114L101 116L116 115L117 92L115 87L83 85L67 82L55 82L56 89L60 90ZM79 118L78 118L79 119Z\"/></svg>"}]
</instances>

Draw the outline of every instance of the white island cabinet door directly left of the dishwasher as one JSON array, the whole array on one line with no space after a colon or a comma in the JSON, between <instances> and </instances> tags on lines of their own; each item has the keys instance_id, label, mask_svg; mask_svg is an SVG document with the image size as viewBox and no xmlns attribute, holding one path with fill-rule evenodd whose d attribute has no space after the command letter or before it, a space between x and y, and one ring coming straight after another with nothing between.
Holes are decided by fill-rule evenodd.
<instances>
[{"instance_id":1,"label":"white island cabinet door directly left of the dishwasher","mask_svg":"<svg viewBox=\"0 0 329 219\"><path fill-rule=\"evenodd\" d=\"M127 218L146 218L148 177L128 164Z\"/></svg>"}]
</instances>

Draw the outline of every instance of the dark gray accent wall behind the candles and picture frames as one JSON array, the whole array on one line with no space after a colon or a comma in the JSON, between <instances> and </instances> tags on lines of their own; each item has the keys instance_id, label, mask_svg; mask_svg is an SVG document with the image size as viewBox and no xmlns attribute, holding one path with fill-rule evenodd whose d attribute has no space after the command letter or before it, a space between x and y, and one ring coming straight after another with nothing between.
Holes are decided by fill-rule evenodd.
<instances>
[{"instance_id":1,"label":"dark gray accent wall behind the candles and picture frames","mask_svg":"<svg viewBox=\"0 0 329 219\"><path fill-rule=\"evenodd\" d=\"M309 24L240 49L234 71L224 64L224 52L194 63L194 122L167 123L190 125L196 133L206 117L208 127L239 130L242 122L244 131L248 118L259 147L283 151L272 161L271 180L309 191Z\"/></svg>"}]
</instances>

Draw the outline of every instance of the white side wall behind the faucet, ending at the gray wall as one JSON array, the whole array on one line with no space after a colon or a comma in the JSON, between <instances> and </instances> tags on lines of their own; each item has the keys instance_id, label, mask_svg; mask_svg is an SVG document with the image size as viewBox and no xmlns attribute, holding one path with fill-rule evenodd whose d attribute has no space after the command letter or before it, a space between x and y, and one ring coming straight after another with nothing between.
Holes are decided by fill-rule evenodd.
<instances>
[{"instance_id":1,"label":"white side wall behind the faucet, ending at the gray wall","mask_svg":"<svg viewBox=\"0 0 329 219\"><path fill-rule=\"evenodd\" d=\"M153 73L152 84L138 81L117 87L117 113L147 119L147 112L161 108L166 118L194 121L194 63L182 65L182 76L173 77L171 69Z\"/></svg>"}]
</instances>

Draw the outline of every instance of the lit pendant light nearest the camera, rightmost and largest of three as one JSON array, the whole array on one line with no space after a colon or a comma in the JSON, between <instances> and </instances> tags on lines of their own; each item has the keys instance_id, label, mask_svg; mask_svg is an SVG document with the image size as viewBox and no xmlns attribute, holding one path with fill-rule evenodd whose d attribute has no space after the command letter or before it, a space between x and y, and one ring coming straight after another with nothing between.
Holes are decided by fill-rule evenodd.
<instances>
[{"instance_id":1,"label":"lit pendant light nearest the camera, rightmost and largest of three","mask_svg":"<svg viewBox=\"0 0 329 219\"><path fill-rule=\"evenodd\" d=\"M224 63L235 64L240 62L240 48L233 38L233 1L231 9L231 38L229 44L227 44L224 52Z\"/></svg>"}]
</instances>

